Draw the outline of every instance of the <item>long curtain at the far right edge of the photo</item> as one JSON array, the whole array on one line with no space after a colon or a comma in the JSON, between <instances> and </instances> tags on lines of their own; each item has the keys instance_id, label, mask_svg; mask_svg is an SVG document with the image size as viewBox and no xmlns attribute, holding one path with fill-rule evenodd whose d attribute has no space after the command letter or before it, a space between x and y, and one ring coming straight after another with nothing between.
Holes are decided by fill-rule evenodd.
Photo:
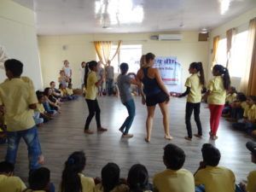
<instances>
[{"instance_id":1,"label":"long curtain at the far right edge of the photo","mask_svg":"<svg viewBox=\"0 0 256 192\"><path fill-rule=\"evenodd\" d=\"M250 20L248 44L251 48L248 52L251 53L251 55L248 57L248 63L250 66L248 68L250 70L247 95L256 96L256 17L253 20Z\"/></svg>"}]
</instances>

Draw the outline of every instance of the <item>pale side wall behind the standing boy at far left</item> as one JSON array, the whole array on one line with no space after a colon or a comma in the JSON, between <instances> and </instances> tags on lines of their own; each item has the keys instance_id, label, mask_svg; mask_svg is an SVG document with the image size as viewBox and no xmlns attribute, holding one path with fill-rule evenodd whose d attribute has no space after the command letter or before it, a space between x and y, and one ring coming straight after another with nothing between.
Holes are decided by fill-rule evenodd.
<instances>
[{"instance_id":1,"label":"pale side wall behind the standing boy at far left","mask_svg":"<svg viewBox=\"0 0 256 192\"><path fill-rule=\"evenodd\" d=\"M34 12L9 0L0 1L0 45L3 45L9 58L23 62L24 73L30 77L36 89L42 88L41 67L38 56L38 39ZM0 69L0 82L6 79Z\"/></svg>"}]
</instances>

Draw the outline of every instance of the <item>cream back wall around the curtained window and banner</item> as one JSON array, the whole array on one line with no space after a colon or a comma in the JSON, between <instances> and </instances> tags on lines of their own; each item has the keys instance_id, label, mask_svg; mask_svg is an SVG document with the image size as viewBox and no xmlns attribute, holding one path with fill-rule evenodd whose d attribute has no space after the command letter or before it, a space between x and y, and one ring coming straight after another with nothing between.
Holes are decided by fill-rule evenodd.
<instances>
[{"instance_id":1,"label":"cream back wall around the curtained window and banner","mask_svg":"<svg viewBox=\"0 0 256 192\"><path fill-rule=\"evenodd\" d=\"M81 61L96 59L93 41L123 40L123 44L142 44L143 54L153 52L158 56L177 56L183 67L183 79L189 76L189 64L193 61L202 61L208 65L208 42L198 42L198 32L183 32L181 41L157 41L149 37L155 33L130 33L130 34L86 34L73 36L39 36L38 44L44 86L51 80L57 80L62 61L68 60L73 68L73 87L79 87L79 66ZM62 49L63 45L67 49Z\"/></svg>"}]
</instances>

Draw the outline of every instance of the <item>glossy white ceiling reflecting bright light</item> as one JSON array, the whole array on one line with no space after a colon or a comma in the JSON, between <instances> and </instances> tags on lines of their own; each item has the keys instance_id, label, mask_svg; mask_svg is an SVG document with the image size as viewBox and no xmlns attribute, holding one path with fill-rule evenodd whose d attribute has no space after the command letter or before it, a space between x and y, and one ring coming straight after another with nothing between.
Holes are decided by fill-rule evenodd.
<instances>
[{"instance_id":1,"label":"glossy white ceiling reflecting bright light","mask_svg":"<svg viewBox=\"0 0 256 192\"><path fill-rule=\"evenodd\" d=\"M201 31L256 7L256 0L14 0L36 13L39 35Z\"/></svg>"}]
</instances>

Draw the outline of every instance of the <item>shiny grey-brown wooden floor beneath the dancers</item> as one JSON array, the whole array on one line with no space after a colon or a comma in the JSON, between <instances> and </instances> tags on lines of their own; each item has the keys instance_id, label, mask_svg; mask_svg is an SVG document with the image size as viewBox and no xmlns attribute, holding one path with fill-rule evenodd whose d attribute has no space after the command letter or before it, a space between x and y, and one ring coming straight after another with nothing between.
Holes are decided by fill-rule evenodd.
<instances>
[{"instance_id":1,"label":"shiny grey-brown wooden floor beneath the dancers","mask_svg":"<svg viewBox=\"0 0 256 192\"><path fill-rule=\"evenodd\" d=\"M90 177L100 176L102 166L108 162L115 162L121 168L121 176L126 177L129 168L135 163L141 163L148 168L150 178L155 172L165 169L162 163L163 147L169 143L164 140L164 131L160 109L156 108L154 117L154 131L151 143L144 142L146 107L136 97L137 114L131 127L131 133L135 137L131 139L121 138L118 131L127 112L117 97L104 96L99 99L102 108L102 126L108 128L108 132L84 135L84 121L88 114L87 105L82 97L78 101L66 102L62 105L61 114L54 120L38 128L45 166L51 170L51 179L57 186L60 183L61 172L67 156L76 150L84 150L87 157L87 166L84 173ZM186 136L184 124L185 99L172 98L170 108L171 134L174 139L171 143L183 148L186 153L184 168L195 172L201 161L201 145L213 143L222 154L220 165L227 166L236 174L236 182L247 177L247 173L255 166L251 163L250 153L245 143L251 140L240 131L233 131L230 123L221 119L218 131L218 140L209 140L209 112L206 104L201 105L201 123L203 126L202 139L193 138L192 142L183 139ZM192 119L193 130L195 122ZM90 125L96 130L95 119ZM196 132L196 131L195 131ZM6 145L0 145L0 160L3 160ZM17 156L15 174L25 181L27 180L27 151L22 141Z\"/></svg>"}]
</instances>

